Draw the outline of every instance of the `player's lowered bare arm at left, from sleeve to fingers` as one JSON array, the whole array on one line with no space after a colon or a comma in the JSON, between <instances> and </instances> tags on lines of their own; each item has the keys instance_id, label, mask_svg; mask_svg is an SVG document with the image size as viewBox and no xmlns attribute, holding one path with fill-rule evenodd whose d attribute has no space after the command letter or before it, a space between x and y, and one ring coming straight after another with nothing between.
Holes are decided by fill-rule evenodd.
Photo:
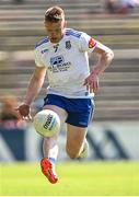
<instances>
[{"instance_id":1,"label":"player's lowered bare arm at left, from sleeve to fingers","mask_svg":"<svg viewBox=\"0 0 139 197\"><path fill-rule=\"evenodd\" d=\"M35 70L31 77L26 95L23 103L18 107L18 111L23 119L31 119L30 106L33 100L39 93L46 74L46 67L35 67Z\"/></svg>"}]
</instances>

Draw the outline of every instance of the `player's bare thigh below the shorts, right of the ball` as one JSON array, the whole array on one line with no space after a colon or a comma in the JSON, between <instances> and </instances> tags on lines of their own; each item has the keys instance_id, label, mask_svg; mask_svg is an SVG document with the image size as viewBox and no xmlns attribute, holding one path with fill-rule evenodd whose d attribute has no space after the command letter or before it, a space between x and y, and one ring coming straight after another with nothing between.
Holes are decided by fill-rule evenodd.
<instances>
[{"instance_id":1,"label":"player's bare thigh below the shorts, right of the ball","mask_svg":"<svg viewBox=\"0 0 139 197\"><path fill-rule=\"evenodd\" d=\"M84 138L86 136L88 128L77 127L67 124L67 143L66 149L68 152L78 153L82 147Z\"/></svg>"}]
</instances>

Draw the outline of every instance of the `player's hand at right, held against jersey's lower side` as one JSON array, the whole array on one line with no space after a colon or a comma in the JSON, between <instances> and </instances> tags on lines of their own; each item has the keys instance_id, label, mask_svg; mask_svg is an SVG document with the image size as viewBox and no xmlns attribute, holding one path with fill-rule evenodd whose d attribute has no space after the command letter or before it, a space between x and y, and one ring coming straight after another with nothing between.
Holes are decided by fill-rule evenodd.
<instances>
[{"instance_id":1,"label":"player's hand at right, held against jersey's lower side","mask_svg":"<svg viewBox=\"0 0 139 197\"><path fill-rule=\"evenodd\" d=\"M84 81L84 84L90 92L96 93L99 90L99 76L92 72Z\"/></svg>"}]
</instances>

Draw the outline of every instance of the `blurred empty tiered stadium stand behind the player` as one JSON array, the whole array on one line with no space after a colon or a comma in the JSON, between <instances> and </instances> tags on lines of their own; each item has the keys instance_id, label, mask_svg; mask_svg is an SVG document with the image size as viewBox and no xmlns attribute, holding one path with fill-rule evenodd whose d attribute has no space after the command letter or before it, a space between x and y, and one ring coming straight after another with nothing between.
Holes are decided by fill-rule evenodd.
<instances>
[{"instance_id":1,"label":"blurred empty tiered stadium stand behind the player","mask_svg":"<svg viewBox=\"0 0 139 197\"><path fill-rule=\"evenodd\" d=\"M54 4L66 10L69 27L85 31L115 53L112 66L101 78L94 119L139 119L139 12L109 15L102 0L1 1L0 96L11 93L22 101L34 69L34 45L45 36L43 15ZM95 58L91 57L90 63L93 66ZM46 83L38 97L45 94Z\"/></svg>"}]
</instances>

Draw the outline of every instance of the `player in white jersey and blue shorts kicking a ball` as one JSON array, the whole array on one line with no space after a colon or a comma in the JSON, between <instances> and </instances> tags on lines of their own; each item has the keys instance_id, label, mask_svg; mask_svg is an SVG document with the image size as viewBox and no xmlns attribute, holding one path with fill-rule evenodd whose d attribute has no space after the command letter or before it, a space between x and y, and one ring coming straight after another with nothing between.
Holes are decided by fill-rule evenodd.
<instances>
[{"instance_id":1,"label":"player in white jersey and blue shorts kicking a ball","mask_svg":"<svg viewBox=\"0 0 139 197\"><path fill-rule=\"evenodd\" d=\"M30 118L30 106L39 93L47 72L49 86L44 99L44 109L56 112L61 124L67 123L66 151L71 159L88 155L85 139L88 125L94 111L94 93L99 76L109 66L113 51L84 32L67 28L65 12L59 7L45 12L47 36L36 44L35 70L19 112ZM88 53L100 55L90 73ZM44 138L44 158L40 166L50 183L57 183L55 163L58 155L58 135Z\"/></svg>"}]
</instances>

